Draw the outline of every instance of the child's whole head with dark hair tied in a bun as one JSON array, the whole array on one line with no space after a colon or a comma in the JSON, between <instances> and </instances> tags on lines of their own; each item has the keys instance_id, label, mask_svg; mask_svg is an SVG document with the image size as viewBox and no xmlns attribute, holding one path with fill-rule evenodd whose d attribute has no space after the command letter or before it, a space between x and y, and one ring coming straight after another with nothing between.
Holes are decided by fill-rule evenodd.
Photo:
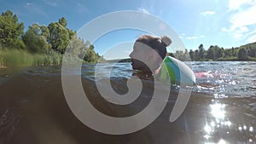
<instances>
[{"instance_id":1,"label":"child's whole head with dark hair tied in a bun","mask_svg":"<svg viewBox=\"0 0 256 144\"><path fill-rule=\"evenodd\" d=\"M170 37L143 35L137 38L131 52L131 65L134 70L154 73L166 57L166 47L172 43Z\"/></svg>"}]
</instances>

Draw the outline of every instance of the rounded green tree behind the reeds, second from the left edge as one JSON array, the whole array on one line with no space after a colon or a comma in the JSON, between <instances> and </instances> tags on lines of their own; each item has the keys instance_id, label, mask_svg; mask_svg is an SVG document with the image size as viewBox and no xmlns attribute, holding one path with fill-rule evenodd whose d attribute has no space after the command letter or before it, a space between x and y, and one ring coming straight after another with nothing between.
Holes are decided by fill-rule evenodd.
<instances>
[{"instance_id":1,"label":"rounded green tree behind the reeds, second from the left edge","mask_svg":"<svg viewBox=\"0 0 256 144\"><path fill-rule=\"evenodd\" d=\"M43 53L49 48L47 39L49 38L49 30L46 26L33 24L22 37L27 48L34 53Z\"/></svg>"}]
</instances>

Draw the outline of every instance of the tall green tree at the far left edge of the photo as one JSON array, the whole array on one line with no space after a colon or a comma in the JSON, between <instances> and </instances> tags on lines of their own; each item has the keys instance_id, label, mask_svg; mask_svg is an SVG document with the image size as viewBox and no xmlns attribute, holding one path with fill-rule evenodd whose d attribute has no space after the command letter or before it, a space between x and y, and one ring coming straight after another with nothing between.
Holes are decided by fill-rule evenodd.
<instances>
[{"instance_id":1,"label":"tall green tree at the far left edge of the photo","mask_svg":"<svg viewBox=\"0 0 256 144\"><path fill-rule=\"evenodd\" d=\"M24 49L25 45L20 40L24 32L24 24L19 23L16 14L7 10L0 15L0 45L2 48Z\"/></svg>"}]
</instances>

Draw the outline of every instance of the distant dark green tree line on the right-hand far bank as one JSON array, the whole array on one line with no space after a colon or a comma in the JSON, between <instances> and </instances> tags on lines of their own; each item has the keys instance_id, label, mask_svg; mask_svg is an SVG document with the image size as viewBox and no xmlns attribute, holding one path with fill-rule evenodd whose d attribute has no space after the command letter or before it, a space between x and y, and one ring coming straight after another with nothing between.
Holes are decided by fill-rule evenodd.
<instances>
[{"instance_id":1,"label":"distant dark green tree line on the right-hand far bank","mask_svg":"<svg viewBox=\"0 0 256 144\"><path fill-rule=\"evenodd\" d=\"M179 60L207 61L207 60L256 60L256 42L241 45L240 47L224 49L218 45L211 45L204 49L200 44L198 49L177 50L175 53L168 53Z\"/></svg>"}]
</instances>

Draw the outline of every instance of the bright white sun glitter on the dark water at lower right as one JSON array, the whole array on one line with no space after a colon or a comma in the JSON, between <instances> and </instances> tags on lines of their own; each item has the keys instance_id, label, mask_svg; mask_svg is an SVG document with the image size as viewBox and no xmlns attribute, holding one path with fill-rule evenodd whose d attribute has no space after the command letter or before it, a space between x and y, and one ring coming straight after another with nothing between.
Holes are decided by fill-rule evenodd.
<instances>
[{"instance_id":1,"label":"bright white sun glitter on the dark water at lower right","mask_svg":"<svg viewBox=\"0 0 256 144\"><path fill-rule=\"evenodd\" d=\"M218 94L214 95L218 96ZM213 99L209 104L210 116L207 115L206 123L203 125L202 138L205 144L230 144L230 140L234 135L248 135L243 137L248 143L253 143L256 138L254 136L255 127L253 124L247 124L247 121L234 123L230 119L230 106L221 103L218 99Z\"/></svg>"}]
</instances>

